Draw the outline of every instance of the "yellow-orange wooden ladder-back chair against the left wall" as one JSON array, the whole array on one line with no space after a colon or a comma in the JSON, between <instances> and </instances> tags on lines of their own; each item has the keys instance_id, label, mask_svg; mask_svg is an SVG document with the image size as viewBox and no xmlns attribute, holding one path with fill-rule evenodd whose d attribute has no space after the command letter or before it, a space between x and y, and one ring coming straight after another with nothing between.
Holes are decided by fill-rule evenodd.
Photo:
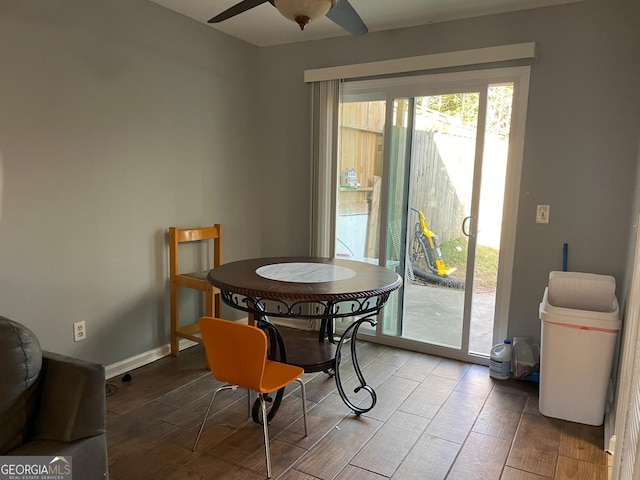
<instances>
[{"instance_id":1,"label":"yellow-orange wooden ladder-back chair against the left wall","mask_svg":"<svg viewBox=\"0 0 640 480\"><path fill-rule=\"evenodd\" d=\"M204 271L181 273L178 261L180 244L186 242L207 242L213 244L213 265ZM187 338L202 343L195 335L200 331L197 322L186 325L180 323L179 287L192 288L205 293L205 315L220 316L220 290L207 281L207 268L216 268L222 257L222 228L220 224L202 228L169 228L169 275L171 288L171 355L178 356L179 341Z\"/></svg>"}]
</instances>

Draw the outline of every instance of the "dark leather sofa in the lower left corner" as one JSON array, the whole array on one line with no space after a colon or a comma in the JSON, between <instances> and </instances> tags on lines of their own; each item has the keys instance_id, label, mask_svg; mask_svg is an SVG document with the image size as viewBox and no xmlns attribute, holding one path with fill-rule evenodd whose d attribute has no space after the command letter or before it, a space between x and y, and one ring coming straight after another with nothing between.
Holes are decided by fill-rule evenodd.
<instances>
[{"instance_id":1,"label":"dark leather sofa in the lower left corner","mask_svg":"<svg viewBox=\"0 0 640 480\"><path fill-rule=\"evenodd\" d=\"M108 478L104 366L43 352L0 316L0 455L71 457L74 480Z\"/></svg>"}]
</instances>

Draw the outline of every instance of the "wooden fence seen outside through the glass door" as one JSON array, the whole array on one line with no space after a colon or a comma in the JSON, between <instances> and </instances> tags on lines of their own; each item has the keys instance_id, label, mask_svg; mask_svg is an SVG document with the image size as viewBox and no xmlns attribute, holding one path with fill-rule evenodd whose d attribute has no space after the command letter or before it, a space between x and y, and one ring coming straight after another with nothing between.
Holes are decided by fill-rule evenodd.
<instances>
[{"instance_id":1,"label":"wooden fence seen outside through the glass door","mask_svg":"<svg viewBox=\"0 0 640 480\"><path fill-rule=\"evenodd\" d=\"M355 170L359 184L357 188L340 187L338 215L344 225L341 232L344 238L340 240L352 247L359 245L358 251L362 248L364 255L371 257L378 255L378 215L377 210L375 214L371 211L374 206L378 208L380 201L380 190L374 188L375 179L383 176L383 106L383 102L343 105L340 131L340 172L347 169ZM402 138L405 133L396 132ZM423 130L413 132L412 147L409 207L421 210L425 214L430 229L438 235L440 242L459 238L462 235L461 225L465 217L464 207L442 161L434 133ZM397 174L403 175L402 169L399 169ZM397 194L404 195L403 190L400 188ZM364 239L360 238L362 228L355 226L362 221L356 217L362 215L368 218L365 234L367 238ZM418 221L417 213L410 210L407 221L409 242L413 241L413 232ZM363 241L364 245L361 243ZM411 251L412 245L409 247Z\"/></svg>"}]
</instances>

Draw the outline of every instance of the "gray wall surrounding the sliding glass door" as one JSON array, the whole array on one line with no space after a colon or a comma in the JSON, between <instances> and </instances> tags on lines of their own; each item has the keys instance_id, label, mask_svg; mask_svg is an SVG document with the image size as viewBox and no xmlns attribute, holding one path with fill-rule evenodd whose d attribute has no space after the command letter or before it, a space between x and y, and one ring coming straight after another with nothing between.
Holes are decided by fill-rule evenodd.
<instances>
[{"instance_id":1,"label":"gray wall surrounding the sliding glass door","mask_svg":"<svg viewBox=\"0 0 640 480\"><path fill-rule=\"evenodd\" d=\"M263 253L304 253L308 244L305 69L535 41L509 335L539 337L538 304L565 242L570 270L613 275L624 297L640 134L638 18L637 2L587 1L262 49L262 159L273 192L262 210ZM535 224L536 204L551 205L549 225Z\"/></svg>"}]
</instances>

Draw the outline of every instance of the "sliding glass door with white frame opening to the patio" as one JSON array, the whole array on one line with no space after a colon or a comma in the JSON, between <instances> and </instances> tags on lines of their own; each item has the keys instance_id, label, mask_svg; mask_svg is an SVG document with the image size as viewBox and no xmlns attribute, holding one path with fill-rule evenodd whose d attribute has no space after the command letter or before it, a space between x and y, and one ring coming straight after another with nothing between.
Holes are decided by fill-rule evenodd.
<instances>
[{"instance_id":1,"label":"sliding glass door with white frame opening to the patio","mask_svg":"<svg viewBox=\"0 0 640 480\"><path fill-rule=\"evenodd\" d=\"M345 86L335 254L404 278L375 340L482 363L506 333L526 76Z\"/></svg>"}]
</instances>

